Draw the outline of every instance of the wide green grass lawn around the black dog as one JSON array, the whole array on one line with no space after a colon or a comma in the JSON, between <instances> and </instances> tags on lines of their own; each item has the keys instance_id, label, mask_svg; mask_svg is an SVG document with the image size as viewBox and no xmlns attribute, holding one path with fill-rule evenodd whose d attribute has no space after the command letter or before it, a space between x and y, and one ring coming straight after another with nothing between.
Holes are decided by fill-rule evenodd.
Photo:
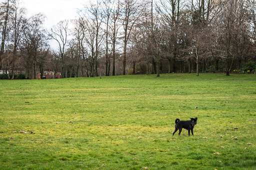
<instances>
[{"instance_id":1,"label":"wide green grass lawn around the black dog","mask_svg":"<svg viewBox=\"0 0 256 170\"><path fill-rule=\"evenodd\" d=\"M0 81L0 170L254 170L255 146L254 74Z\"/></svg>"}]
</instances>

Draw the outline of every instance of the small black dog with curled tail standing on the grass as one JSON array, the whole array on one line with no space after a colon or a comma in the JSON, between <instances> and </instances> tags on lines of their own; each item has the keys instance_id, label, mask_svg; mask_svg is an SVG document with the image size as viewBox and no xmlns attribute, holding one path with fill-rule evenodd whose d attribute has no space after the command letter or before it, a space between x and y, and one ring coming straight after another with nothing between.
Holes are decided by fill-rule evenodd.
<instances>
[{"instance_id":1,"label":"small black dog with curled tail standing on the grass","mask_svg":"<svg viewBox=\"0 0 256 170\"><path fill-rule=\"evenodd\" d=\"M190 130L191 134L193 134L193 128L194 125L196 125L197 118L190 118L189 121L180 121L178 118L175 120L175 131L172 133L172 136L177 132L178 130L178 135L180 135L182 128L186 129L188 131L188 136L190 136Z\"/></svg>"}]
</instances>

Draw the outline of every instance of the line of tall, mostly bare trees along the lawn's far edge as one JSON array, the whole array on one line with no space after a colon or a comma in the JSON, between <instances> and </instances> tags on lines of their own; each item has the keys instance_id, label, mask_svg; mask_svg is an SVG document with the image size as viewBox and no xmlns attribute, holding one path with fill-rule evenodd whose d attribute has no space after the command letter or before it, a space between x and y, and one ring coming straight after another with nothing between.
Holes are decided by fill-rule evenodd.
<instances>
[{"instance_id":1,"label":"line of tall, mostly bare trees along the lawn's far edge","mask_svg":"<svg viewBox=\"0 0 256 170\"><path fill-rule=\"evenodd\" d=\"M61 78L255 73L255 0L98 0L77 13L46 30L42 14L27 18L18 0L2 0L0 70L9 79L45 69Z\"/></svg>"}]
</instances>

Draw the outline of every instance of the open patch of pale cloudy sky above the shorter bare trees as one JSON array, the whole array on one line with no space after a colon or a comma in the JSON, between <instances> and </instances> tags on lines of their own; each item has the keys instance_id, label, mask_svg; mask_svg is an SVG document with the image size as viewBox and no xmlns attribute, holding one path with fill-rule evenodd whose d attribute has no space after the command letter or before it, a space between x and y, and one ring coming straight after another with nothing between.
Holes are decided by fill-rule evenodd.
<instances>
[{"instance_id":1,"label":"open patch of pale cloudy sky above the shorter bare trees","mask_svg":"<svg viewBox=\"0 0 256 170\"><path fill-rule=\"evenodd\" d=\"M20 5L27 9L27 16L43 13L45 27L49 29L58 21L73 19L77 9L81 9L89 0L20 0Z\"/></svg>"}]
</instances>

